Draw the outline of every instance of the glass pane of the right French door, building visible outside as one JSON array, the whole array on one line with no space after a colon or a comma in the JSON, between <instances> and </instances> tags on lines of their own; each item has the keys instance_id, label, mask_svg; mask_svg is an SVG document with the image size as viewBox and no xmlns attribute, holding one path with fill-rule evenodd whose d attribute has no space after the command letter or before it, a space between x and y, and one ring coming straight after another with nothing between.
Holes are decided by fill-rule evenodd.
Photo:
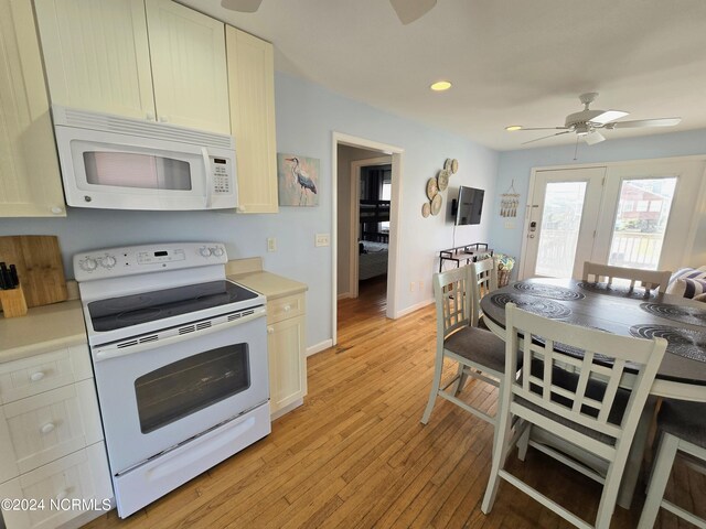
<instances>
[{"instance_id":1,"label":"glass pane of the right French door, building visible outside","mask_svg":"<svg viewBox=\"0 0 706 529\"><path fill-rule=\"evenodd\" d=\"M656 270L676 177L623 180L608 263Z\"/></svg>"}]
</instances>

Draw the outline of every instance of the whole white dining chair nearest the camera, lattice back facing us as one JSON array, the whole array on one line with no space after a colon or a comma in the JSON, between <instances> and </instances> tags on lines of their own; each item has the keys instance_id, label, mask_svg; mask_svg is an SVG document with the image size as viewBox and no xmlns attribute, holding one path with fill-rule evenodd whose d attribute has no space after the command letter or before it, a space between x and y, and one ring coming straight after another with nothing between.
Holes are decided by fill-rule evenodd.
<instances>
[{"instance_id":1,"label":"whole white dining chair nearest the camera, lattice back facing us","mask_svg":"<svg viewBox=\"0 0 706 529\"><path fill-rule=\"evenodd\" d=\"M505 368L492 468L481 510L491 511L502 478L576 527L607 529L630 444L666 341L579 327L531 314L513 303L505 305L505 366L521 359L525 368L520 378L513 369ZM530 336L533 339L523 339ZM571 350L573 355L561 349ZM595 361L597 355L603 355L600 363ZM631 391L619 388L627 363L637 369ZM606 475L600 475L590 467L579 468L560 452L545 450L603 485L595 526L504 469L509 451L520 439L531 439L533 428L547 430L608 462Z\"/></svg>"}]
</instances>

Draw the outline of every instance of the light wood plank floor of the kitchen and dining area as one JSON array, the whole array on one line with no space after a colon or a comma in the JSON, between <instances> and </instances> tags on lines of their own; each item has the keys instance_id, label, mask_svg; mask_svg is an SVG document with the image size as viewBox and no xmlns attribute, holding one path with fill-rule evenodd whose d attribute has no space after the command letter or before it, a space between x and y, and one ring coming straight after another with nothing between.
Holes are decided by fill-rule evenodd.
<instances>
[{"instance_id":1,"label":"light wood plank floor of the kitchen and dining area","mask_svg":"<svg viewBox=\"0 0 706 529\"><path fill-rule=\"evenodd\" d=\"M383 282L339 305L339 345L309 358L304 406L272 433L127 520L113 510L90 528L564 528L556 515L503 483L491 515L480 511L492 430L450 402L427 402L435 356L429 305L397 321L384 317ZM464 395L489 408L481 382ZM600 487L531 449L510 468L587 519ZM698 475L696 475L698 476ZM670 494L706 512L705 481L680 468ZM635 527L643 495L616 509L614 528ZM677 525L660 515L659 528Z\"/></svg>"}]
</instances>

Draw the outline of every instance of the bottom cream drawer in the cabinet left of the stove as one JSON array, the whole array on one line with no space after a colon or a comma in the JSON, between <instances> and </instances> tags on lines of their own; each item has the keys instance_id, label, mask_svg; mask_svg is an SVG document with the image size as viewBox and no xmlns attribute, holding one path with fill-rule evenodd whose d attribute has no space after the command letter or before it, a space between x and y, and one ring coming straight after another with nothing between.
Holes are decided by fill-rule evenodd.
<instances>
[{"instance_id":1,"label":"bottom cream drawer in the cabinet left of the stove","mask_svg":"<svg viewBox=\"0 0 706 529\"><path fill-rule=\"evenodd\" d=\"M103 442L3 483L0 498L43 501L43 509L3 510L8 529L51 529L87 510L108 510L113 489Z\"/></svg>"}]
</instances>

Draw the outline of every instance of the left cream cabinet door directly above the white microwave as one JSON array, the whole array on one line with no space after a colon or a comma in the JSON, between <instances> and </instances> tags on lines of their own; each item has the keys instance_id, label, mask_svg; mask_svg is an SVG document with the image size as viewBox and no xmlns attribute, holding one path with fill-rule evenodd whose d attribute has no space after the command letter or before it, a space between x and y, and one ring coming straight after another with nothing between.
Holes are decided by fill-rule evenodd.
<instances>
[{"instance_id":1,"label":"left cream cabinet door directly above the white microwave","mask_svg":"<svg viewBox=\"0 0 706 529\"><path fill-rule=\"evenodd\" d=\"M53 104L154 119L142 0L35 0Z\"/></svg>"}]
</instances>

